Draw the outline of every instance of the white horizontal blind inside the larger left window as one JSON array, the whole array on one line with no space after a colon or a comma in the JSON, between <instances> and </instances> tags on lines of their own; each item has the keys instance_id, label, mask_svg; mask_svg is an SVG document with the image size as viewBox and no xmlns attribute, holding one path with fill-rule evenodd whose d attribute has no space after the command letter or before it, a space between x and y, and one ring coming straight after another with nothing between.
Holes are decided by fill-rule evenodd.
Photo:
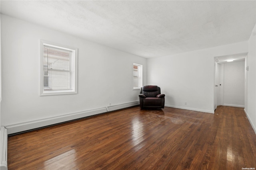
<instances>
[{"instance_id":1,"label":"white horizontal blind inside the larger left window","mask_svg":"<svg viewBox=\"0 0 256 170\"><path fill-rule=\"evenodd\" d=\"M72 51L44 45L44 90L72 89Z\"/></svg>"}]
</instances>

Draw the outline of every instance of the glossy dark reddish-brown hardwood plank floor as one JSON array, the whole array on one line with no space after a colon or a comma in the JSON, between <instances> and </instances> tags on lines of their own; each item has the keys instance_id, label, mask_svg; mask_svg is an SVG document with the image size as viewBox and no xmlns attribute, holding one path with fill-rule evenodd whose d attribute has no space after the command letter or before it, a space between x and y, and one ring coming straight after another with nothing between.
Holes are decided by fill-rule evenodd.
<instances>
[{"instance_id":1,"label":"glossy dark reddish-brown hardwood plank floor","mask_svg":"<svg viewBox=\"0 0 256 170\"><path fill-rule=\"evenodd\" d=\"M8 170L256 168L243 108L131 107L8 137Z\"/></svg>"}]
</instances>

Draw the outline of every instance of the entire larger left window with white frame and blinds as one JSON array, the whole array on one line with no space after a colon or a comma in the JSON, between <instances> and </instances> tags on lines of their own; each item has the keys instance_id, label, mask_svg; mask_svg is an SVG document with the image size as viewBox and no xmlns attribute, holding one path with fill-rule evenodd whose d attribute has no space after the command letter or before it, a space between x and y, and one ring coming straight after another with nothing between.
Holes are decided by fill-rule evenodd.
<instances>
[{"instance_id":1,"label":"entire larger left window with white frame and blinds","mask_svg":"<svg viewBox=\"0 0 256 170\"><path fill-rule=\"evenodd\" d=\"M77 94L77 49L41 40L40 95Z\"/></svg>"}]
</instances>

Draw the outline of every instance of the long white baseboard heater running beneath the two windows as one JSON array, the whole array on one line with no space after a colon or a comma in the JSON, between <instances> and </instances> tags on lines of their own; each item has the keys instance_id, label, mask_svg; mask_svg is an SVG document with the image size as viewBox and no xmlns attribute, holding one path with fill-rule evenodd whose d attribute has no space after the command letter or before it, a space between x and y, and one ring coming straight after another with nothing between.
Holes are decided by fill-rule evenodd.
<instances>
[{"instance_id":1,"label":"long white baseboard heater running beneath the two windows","mask_svg":"<svg viewBox=\"0 0 256 170\"><path fill-rule=\"evenodd\" d=\"M139 104L140 104L140 102L138 102L138 101L130 102L130 103L126 103L126 104L101 107L101 108L92 109L92 110L85 110L85 111L81 111L81 112L70 113L70 114L56 116L56 117L50 117L50 118L46 118L46 119L40 119L40 120L36 120L36 121L29 121L29 122L14 124L14 125L7 125L5 127L8 129L8 131L7 131L8 134L20 133L23 131L29 131L32 129L46 127L46 126L50 126L50 125L54 125L54 124L58 124L58 123L63 123L66 121L80 119L83 117L106 113L108 111L124 109L126 107L132 107L132 106L136 106Z\"/></svg>"}]
</instances>

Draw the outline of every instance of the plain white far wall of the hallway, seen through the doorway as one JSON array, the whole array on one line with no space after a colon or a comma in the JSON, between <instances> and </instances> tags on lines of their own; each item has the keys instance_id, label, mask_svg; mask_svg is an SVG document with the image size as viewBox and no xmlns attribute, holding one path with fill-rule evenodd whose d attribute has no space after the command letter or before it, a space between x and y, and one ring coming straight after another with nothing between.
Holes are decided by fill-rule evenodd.
<instances>
[{"instance_id":1,"label":"plain white far wall of the hallway, seen through the doorway","mask_svg":"<svg viewBox=\"0 0 256 170\"><path fill-rule=\"evenodd\" d=\"M224 65L224 106L244 107L244 61Z\"/></svg>"}]
</instances>

